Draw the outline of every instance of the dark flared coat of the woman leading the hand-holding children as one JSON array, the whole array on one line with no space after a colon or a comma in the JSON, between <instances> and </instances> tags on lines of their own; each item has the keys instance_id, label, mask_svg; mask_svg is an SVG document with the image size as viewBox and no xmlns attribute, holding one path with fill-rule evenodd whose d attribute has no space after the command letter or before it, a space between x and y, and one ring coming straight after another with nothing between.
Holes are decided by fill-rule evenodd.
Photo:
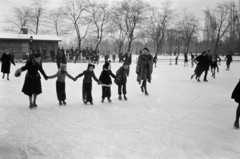
<instances>
[{"instance_id":1,"label":"dark flared coat of the woman leading the hand-holding children","mask_svg":"<svg viewBox=\"0 0 240 159\"><path fill-rule=\"evenodd\" d=\"M27 61L26 65L21 68L22 71L27 70L27 74L25 77L25 81L23 84L22 92L28 96L33 94L41 94L42 93L42 85L41 85L41 76L38 71L47 79L47 75L45 74L42 65L35 63L33 64L32 59Z\"/></svg>"}]
</instances>

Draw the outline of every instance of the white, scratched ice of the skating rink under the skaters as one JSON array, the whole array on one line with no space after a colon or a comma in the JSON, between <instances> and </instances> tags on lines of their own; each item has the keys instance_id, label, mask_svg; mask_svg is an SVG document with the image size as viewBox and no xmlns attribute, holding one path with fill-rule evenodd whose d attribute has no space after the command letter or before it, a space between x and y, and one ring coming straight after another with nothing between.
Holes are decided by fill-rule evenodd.
<instances>
[{"instance_id":1,"label":"white, scratched ice of the skating rink under the skaters","mask_svg":"<svg viewBox=\"0 0 240 159\"><path fill-rule=\"evenodd\" d=\"M100 63L95 68L99 77ZM190 63L189 63L190 64ZM25 73L0 79L0 159L239 159L240 131L233 128L237 103L230 99L240 78L240 63L208 83L191 80L194 68L159 62L149 96L136 82L136 64L127 83L128 101L119 101L112 86L112 103L101 103L101 86L93 81L94 105L82 102L82 78L66 80L67 106L59 106L56 79L42 78L38 108L29 109L21 92ZM113 63L115 73L121 64ZM55 63L44 63L47 75ZM87 63L69 63L76 76ZM201 78L202 79L202 78Z\"/></svg>"}]
</instances>

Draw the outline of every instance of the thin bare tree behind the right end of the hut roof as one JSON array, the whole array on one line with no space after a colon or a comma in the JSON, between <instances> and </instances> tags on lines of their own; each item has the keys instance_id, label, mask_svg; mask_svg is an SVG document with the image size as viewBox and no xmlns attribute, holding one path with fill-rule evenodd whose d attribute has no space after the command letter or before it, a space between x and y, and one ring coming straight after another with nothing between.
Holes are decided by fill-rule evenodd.
<instances>
[{"instance_id":1,"label":"thin bare tree behind the right end of the hut roof","mask_svg":"<svg viewBox=\"0 0 240 159\"><path fill-rule=\"evenodd\" d=\"M64 13L62 11L63 11L63 8L59 7L49 12L49 20L50 20L49 23L54 28L55 34L57 36L68 35L71 31L71 29L69 29L65 21L66 17L64 16Z\"/></svg>"}]
</instances>

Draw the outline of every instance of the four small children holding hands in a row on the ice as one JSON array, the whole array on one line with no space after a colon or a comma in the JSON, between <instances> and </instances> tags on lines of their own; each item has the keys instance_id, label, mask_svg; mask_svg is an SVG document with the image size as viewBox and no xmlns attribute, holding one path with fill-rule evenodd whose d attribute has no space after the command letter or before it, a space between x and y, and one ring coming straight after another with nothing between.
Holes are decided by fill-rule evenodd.
<instances>
[{"instance_id":1,"label":"four small children holding hands in a row on the ice","mask_svg":"<svg viewBox=\"0 0 240 159\"><path fill-rule=\"evenodd\" d=\"M65 93L65 79L66 76L74 81L78 78L84 76L83 78L83 85L82 85L82 97L83 102L87 104L88 102L93 105L92 99L92 78L100 85L102 85L102 100L103 103L105 98L108 99L108 102L111 102L111 85L112 80L111 77L114 78L114 82L118 85L118 94L119 100L123 98L127 100L126 97L126 83L127 83L127 75L128 75L128 67L129 64L125 62L123 66L121 66L118 71L116 72L116 76L111 71L111 61L106 61L103 65L103 70L99 79L96 78L94 73L95 66L93 64L88 64L87 70L80 73L78 76L73 78L68 72L66 65L63 64L60 67L60 70L55 75L48 76L49 79L53 79L57 77L56 81L56 91L57 91L57 98L59 100L59 105L66 105L66 93ZM111 76L111 77L110 77Z\"/></svg>"}]
</instances>

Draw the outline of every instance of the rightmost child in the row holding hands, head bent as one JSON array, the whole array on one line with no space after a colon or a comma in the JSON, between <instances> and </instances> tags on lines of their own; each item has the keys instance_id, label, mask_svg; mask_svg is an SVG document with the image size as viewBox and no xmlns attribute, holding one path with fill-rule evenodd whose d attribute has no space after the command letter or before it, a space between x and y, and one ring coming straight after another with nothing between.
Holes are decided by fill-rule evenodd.
<instances>
[{"instance_id":1,"label":"rightmost child in the row holding hands, head bent","mask_svg":"<svg viewBox=\"0 0 240 159\"><path fill-rule=\"evenodd\" d=\"M122 94L123 98L127 100L126 94L126 84L127 84L127 74L128 74L128 67L129 64L127 62L123 63L123 66L121 66L117 72L116 72L116 84L118 85L118 99L122 100Z\"/></svg>"}]
</instances>

